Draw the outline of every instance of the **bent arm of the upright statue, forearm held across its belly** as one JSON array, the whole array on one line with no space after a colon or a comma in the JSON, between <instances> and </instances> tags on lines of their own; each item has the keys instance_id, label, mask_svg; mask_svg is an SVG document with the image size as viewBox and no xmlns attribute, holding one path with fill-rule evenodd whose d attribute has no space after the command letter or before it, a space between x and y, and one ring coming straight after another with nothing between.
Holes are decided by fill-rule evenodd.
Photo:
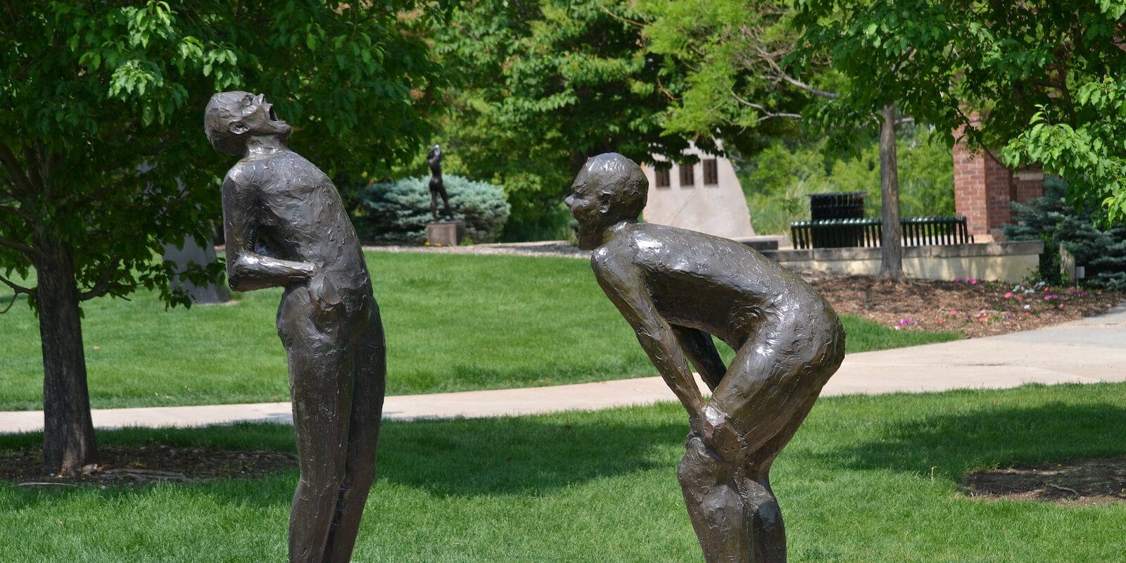
<instances>
[{"instance_id":1,"label":"bent arm of the upright statue, forearm held across its belly","mask_svg":"<svg viewBox=\"0 0 1126 563\"><path fill-rule=\"evenodd\" d=\"M256 190L238 175L223 180L223 232L226 239L226 278L236 292L284 286L307 280L311 262L280 260L254 251L258 239Z\"/></svg>"}]
</instances>

